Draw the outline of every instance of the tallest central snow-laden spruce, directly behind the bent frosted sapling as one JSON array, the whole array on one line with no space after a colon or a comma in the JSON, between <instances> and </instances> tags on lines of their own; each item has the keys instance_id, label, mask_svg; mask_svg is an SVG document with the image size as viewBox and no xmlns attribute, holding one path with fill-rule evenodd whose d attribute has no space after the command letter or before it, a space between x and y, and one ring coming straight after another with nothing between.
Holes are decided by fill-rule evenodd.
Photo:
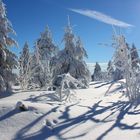
<instances>
[{"instance_id":1,"label":"tallest central snow-laden spruce, directly behind the bent frosted sapling","mask_svg":"<svg viewBox=\"0 0 140 140\"><path fill-rule=\"evenodd\" d=\"M84 62L84 57L87 54L80 38L75 40L72 26L68 21L63 38L65 47L53 59L53 64L56 66L54 75L57 77L57 75L69 73L72 77L84 83L84 88L87 88L90 82L90 72Z\"/></svg>"}]
</instances>

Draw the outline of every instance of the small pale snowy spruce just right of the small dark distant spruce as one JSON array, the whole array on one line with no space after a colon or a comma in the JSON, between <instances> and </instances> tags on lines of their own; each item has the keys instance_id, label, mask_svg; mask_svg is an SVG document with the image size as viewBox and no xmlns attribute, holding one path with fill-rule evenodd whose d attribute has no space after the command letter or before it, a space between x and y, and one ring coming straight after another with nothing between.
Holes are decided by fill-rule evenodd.
<instances>
[{"instance_id":1,"label":"small pale snowy spruce just right of the small dark distant spruce","mask_svg":"<svg viewBox=\"0 0 140 140\"><path fill-rule=\"evenodd\" d=\"M108 80L113 80L113 76L114 76L114 68L113 68L113 64L111 62L111 60L108 62L108 66L107 66L107 77Z\"/></svg>"}]
</instances>

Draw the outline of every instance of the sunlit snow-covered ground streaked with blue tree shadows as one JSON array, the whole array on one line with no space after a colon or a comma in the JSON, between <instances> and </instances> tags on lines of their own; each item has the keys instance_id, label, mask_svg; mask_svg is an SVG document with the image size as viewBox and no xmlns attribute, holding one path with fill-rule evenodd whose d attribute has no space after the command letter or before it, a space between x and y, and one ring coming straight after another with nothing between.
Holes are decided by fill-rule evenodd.
<instances>
[{"instance_id":1,"label":"sunlit snow-covered ground streaked with blue tree shadows","mask_svg":"<svg viewBox=\"0 0 140 140\"><path fill-rule=\"evenodd\" d=\"M91 83L69 102L53 92L22 92L0 99L0 140L139 140L140 106L132 106L115 84ZM28 111L16 108L18 101Z\"/></svg>"}]
</instances>

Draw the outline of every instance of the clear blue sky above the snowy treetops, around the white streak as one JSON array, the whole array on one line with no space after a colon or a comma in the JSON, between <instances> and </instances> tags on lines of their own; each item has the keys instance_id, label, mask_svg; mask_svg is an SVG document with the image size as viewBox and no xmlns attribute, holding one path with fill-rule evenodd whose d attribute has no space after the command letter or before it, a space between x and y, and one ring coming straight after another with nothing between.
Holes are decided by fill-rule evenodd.
<instances>
[{"instance_id":1,"label":"clear blue sky above the snowy treetops, around the white streak","mask_svg":"<svg viewBox=\"0 0 140 140\"><path fill-rule=\"evenodd\" d=\"M81 37L89 58L87 62L107 62L112 58L114 49L100 46L99 43L111 44L112 26L93 18L73 12L69 9L94 10L114 19L131 24L134 27L121 28L128 43L135 43L140 48L140 1L139 0L3 0L7 15L12 22L19 43L19 48L12 50L17 54L24 42L31 48L34 42L49 25L54 41L60 45L67 15L74 25L74 33ZM119 28L117 28L119 30ZM63 45L59 46L60 48Z\"/></svg>"}]
</instances>

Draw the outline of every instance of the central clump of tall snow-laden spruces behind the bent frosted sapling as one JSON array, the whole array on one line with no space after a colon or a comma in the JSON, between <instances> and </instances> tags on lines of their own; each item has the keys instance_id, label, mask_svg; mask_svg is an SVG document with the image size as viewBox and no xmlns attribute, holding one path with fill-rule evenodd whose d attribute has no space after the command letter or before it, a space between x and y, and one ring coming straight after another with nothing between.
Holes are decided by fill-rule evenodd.
<instances>
[{"instance_id":1,"label":"central clump of tall snow-laden spruces behind the bent frosted sapling","mask_svg":"<svg viewBox=\"0 0 140 140\"><path fill-rule=\"evenodd\" d=\"M84 61L87 53L80 37L75 37L72 26L68 21L63 37L64 49L59 50L52 39L49 27L41 33L35 42L34 52L29 52L28 44L25 43L20 55L20 83L23 90L60 88L66 77L73 77L79 81L77 87L87 88L90 82L90 72ZM63 76L63 75L69 76ZM61 76L62 75L62 76ZM62 77L61 80L58 77ZM63 79L63 77L65 77ZM73 88L72 81L69 88ZM63 85L63 84L62 84Z\"/></svg>"}]
</instances>

